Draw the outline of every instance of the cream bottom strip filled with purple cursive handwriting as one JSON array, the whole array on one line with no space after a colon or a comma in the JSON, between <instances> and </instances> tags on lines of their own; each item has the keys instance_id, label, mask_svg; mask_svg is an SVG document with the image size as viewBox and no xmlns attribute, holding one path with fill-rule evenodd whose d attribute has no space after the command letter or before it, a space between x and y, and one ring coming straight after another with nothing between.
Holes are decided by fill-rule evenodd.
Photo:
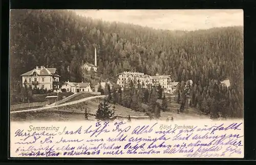
<instances>
[{"instance_id":1,"label":"cream bottom strip filled with purple cursive handwriting","mask_svg":"<svg viewBox=\"0 0 256 165\"><path fill-rule=\"evenodd\" d=\"M30 125L31 129L27 131L16 129L11 140L12 154L17 157L125 155L135 158L157 155L189 158L243 155L241 122L219 122L209 126L160 121L149 124L118 121L62 127L54 125L59 132L53 126L41 128Z\"/></svg>"}]
</instances>

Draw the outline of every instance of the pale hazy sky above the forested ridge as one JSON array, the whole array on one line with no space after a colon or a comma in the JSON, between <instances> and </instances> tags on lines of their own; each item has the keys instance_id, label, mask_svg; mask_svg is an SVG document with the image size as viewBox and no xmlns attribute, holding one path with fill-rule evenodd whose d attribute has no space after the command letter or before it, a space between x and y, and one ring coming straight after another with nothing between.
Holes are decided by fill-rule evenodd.
<instances>
[{"instance_id":1,"label":"pale hazy sky above the forested ridge","mask_svg":"<svg viewBox=\"0 0 256 165\"><path fill-rule=\"evenodd\" d=\"M74 10L77 14L105 21L117 21L155 29L209 29L243 25L243 10Z\"/></svg>"}]
</instances>

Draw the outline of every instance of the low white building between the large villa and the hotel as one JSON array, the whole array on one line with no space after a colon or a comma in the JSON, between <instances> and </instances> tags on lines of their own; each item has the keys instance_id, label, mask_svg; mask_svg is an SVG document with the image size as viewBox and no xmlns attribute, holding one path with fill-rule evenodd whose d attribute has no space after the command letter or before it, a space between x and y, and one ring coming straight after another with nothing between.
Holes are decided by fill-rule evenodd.
<instances>
[{"instance_id":1,"label":"low white building between the large villa and the hotel","mask_svg":"<svg viewBox=\"0 0 256 165\"><path fill-rule=\"evenodd\" d=\"M64 82L61 89L66 89L67 92L93 92L90 82Z\"/></svg>"}]
</instances>

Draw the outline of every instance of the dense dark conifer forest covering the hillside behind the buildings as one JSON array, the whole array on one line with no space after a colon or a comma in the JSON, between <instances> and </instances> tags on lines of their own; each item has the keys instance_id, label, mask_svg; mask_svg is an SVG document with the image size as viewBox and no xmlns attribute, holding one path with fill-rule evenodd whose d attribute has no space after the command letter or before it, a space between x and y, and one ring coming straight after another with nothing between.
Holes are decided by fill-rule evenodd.
<instances>
[{"instance_id":1,"label":"dense dark conifer forest covering the hillside behind the buildings","mask_svg":"<svg viewBox=\"0 0 256 165\"><path fill-rule=\"evenodd\" d=\"M122 71L172 75L180 82L181 104L188 93L188 106L214 118L243 117L243 27L154 30L67 10L11 10L11 99L20 93L20 74L35 66L57 68L61 81L82 81L80 66L94 63L94 46L97 74L103 79L115 81ZM189 92L183 88L188 79L194 82ZM230 80L230 87L220 85L224 79ZM138 100L139 95L134 97Z\"/></svg>"}]
</instances>

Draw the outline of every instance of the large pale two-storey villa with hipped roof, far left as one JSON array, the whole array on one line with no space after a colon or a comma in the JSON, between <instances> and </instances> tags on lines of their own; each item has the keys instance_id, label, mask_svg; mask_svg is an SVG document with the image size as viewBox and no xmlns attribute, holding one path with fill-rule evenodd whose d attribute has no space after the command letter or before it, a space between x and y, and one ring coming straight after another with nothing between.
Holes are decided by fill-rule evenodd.
<instances>
[{"instance_id":1,"label":"large pale two-storey villa with hipped roof, far left","mask_svg":"<svg viewBox=\"0 0 256 165\"><path fill-rule=\"evenodd\" d=\"M35 67L35 69L30 70L22 75L23 87L31 86L32 88L39 89L59 89L59 85L55 82L59 82L59 75L57 74L56 68L45 68L41 66Z\"/></svg>"}]
</instances>

